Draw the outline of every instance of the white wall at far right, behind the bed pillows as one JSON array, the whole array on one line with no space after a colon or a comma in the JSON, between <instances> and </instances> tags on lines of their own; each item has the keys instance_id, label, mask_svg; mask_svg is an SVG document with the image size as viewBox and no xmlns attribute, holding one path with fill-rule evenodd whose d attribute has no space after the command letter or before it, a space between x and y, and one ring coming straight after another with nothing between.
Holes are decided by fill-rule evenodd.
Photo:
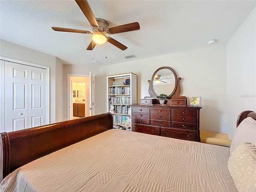
<instances>
[{"instance_id":1,"label":"white wall at far right, behind the bed pillows","mask_svg":"<svg viewBox=\"0 0 256 192\"><path fill-rule=\"evenodd\" d=\"M230 138L236 118L244 110L256 111L256 8L227 43L227 114Z\"/></svg>"}]
</instances>

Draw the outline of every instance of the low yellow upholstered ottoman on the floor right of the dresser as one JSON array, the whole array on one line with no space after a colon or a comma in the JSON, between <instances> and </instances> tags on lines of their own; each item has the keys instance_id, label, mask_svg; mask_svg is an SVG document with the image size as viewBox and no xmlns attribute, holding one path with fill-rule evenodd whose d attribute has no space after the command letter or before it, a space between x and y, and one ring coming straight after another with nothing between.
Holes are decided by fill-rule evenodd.
<instances>
[{"instance_id":1,"label":"low yellow upholstered ottoman on the floor right of the dresser","mask_svg":"<svg viewBox=\"0 0 256 192\"><path fill-rule=\"evenodd\" d=\"M229 140L228 134L215 133L200 130L200 139L202 143L221 145L230 147L232 140Z\"/></svg>"}]
</instances>

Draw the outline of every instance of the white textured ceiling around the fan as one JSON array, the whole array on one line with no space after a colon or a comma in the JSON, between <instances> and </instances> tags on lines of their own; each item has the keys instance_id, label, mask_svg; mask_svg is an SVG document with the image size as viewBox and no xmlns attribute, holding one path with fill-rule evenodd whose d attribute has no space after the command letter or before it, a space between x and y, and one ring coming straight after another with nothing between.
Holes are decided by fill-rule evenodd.
<instances>
[{"instance_id":1,"label":"white textured ceiling around the fan","mask_svg":"<svg viewBox=\"0 0 256 192\"><path fill-rule=\"evenodd\" d=\"M256 6L255 0L94 0L96 18L109 28L139 22L140 30L111 35L128 49L110 43L86 50L89 34L56 32L52 26L91 30L74 0L0 0L0 38L58 57L63 64L116 64L226 44ZM214 46L214 45L212 45ZM134 54L136 58L124 56ZM107 56L107 59L105 58Z\"/></svg>"}]
</instances>

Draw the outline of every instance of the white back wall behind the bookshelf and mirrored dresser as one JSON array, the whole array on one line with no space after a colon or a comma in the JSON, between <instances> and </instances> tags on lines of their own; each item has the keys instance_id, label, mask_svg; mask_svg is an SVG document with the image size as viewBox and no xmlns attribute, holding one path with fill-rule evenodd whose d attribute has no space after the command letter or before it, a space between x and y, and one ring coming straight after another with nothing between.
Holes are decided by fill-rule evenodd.
<instances>
[{"instance_id":1,"label":"white back wall behind the bookshelf and mirrored dresser","mask_svg":"<svg viewBox=\"0 0 256 192\"><path fill-rule=\"evenodd\" d=\"M148 80L162 66L173 68L181 77L180 96L202 96L200 129L228 133L226 114L226 46L214 44L206 49L168 54L100 68L101 89L106 90L106 76L132 72L138 75L138 102L148 96ZM170 92L171 93L171 92ZM106 99L97 102L106 112ZM103 107L104 106L104 107Z\"/></svg>"}]
</instances>

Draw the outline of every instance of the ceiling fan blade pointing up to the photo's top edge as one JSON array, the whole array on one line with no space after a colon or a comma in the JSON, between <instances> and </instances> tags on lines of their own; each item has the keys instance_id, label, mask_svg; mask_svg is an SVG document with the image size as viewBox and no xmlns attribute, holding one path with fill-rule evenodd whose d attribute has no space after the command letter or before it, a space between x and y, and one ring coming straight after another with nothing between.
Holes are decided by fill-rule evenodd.
<instances>
[{"instance_id":1,"label":"ceiling fan blade pointing up to the photo's top edge","mask_svg":"<svg viewBox=\"0 0 256 192\"><path fill-rule=\"evenodd\" d=\"M80 9L84 13L84 16L86 16L89 23L94 27L98 27L99 25L94 17L94 14L90 8L88 1L87 0L76 0L76 3L78 4Z\"/></svg>"}]
</instances>

